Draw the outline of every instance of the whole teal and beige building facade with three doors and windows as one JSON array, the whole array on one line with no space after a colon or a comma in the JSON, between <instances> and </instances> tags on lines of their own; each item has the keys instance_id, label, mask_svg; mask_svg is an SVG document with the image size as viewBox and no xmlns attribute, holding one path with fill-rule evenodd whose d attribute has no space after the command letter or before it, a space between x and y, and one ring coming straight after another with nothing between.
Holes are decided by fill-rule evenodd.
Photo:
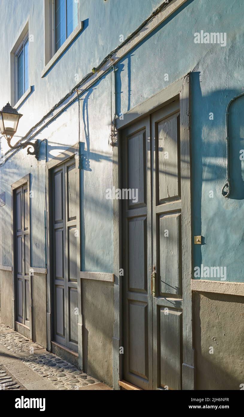
<instances>
[{"instance_id":1,"label":"whole teal and beige building facade with three doors and windows","mask_svg":"<svg viewBox=\"0 0 244 417\"><path fill-rule=\"evenodd\" d=\"M0 6L37 150L0 140L1 321L114 389L241 389L242 1Z\"/></svg>"}]
</instances>

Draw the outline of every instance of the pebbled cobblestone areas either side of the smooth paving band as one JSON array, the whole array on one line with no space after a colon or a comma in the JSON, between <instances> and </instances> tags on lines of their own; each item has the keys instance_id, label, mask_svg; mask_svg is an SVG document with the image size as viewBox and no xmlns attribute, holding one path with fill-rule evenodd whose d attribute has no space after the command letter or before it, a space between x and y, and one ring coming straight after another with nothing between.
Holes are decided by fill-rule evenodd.
<instances>
[{"instance_id":1,"label":"pebbled cobblestone areas either side of the smooth paving band","mask_svg":"<svg viewBox=\"0 0 244 417\"><path fill-rule=\"evenodd\" d=\"M82 387L90 389L89 385L99 383L97 379L90 377L55 354L47 352L41 346L2 323L0 323L0 345L17 356L33 372L37 372L40 377L50 381L53 384L53 389L75 390L82 389ZM3 365L0 365L0 381L1 374L2 381L6 381L4 382L5 387L9 387L8 389L25 389L7 372ZM100 385L107 387L104 384ZM98 389L110 389L104 387ZM95 389L95 386L91 389Z\"/></svg>"}]
</instances>

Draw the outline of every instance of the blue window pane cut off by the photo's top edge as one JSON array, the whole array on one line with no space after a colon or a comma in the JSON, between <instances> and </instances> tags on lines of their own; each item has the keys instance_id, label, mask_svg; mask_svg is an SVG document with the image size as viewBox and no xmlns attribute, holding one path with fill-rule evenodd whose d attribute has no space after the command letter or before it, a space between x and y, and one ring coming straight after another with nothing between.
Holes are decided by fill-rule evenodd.
<instances>
[{"instance_id":1,"label":"blue window pane cut off by the photo's top edge","mask_svg":"<svg viewBox=\"0 0 244 417\"><path fill-rule=\"evenodd\" d=\"M78 25L78 0L55 0L55 51Z\"/></svg>"}]
</instances>

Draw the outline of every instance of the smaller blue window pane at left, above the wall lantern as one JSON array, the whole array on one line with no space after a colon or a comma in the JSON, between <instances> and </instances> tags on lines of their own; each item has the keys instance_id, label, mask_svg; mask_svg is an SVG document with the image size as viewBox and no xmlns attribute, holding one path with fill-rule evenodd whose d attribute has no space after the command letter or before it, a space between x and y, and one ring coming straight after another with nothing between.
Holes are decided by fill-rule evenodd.
<instances>
[{"instance_id":1,"label":"smaller blue window pane at left, above the wall lantern","mask_svg":"<svg viewBox=\"0 0 244 417\"><path fill-rule=\"evenodd\" d=\"M15 103L29 88L29 38L20 43L15 52Z\"/></svg>"}]
</instances>

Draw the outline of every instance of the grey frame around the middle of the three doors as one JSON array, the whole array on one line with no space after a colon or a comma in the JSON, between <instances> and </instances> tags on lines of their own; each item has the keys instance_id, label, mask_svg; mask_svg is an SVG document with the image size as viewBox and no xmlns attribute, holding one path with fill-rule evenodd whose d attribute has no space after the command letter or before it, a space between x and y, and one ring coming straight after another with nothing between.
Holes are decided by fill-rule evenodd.
<instances>
[{"instance_id":1,"label":"grey frame around the middle of the three doors","mask_svg":"<svg viewBox=\"0 0 244 417\"><path fill-rule=\"evenodd\" d=\"M62 165L70 158L75 157L75 169L77 172L76 199L77 199L77 230L79 238L77 241L77 300L78 300L78 355L79 368L82 369L82 309L81 309L81 279L80 279L80 170L79 170L79 143L75 143L70 148L62 151L58 156L52 158L46 163L46 193L47 193L47 350L51 350L52 341L52 245L50 234L52 233L52 196L51 196L51 170L58 165Z\"/></svg>"}]
</instances>

